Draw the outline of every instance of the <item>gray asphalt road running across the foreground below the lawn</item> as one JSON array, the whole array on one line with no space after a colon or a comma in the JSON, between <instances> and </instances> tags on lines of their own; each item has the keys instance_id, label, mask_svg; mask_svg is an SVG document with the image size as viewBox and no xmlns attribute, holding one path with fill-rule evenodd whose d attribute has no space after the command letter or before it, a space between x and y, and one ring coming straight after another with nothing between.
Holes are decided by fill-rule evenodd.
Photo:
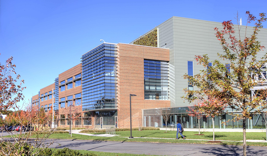
<instances>
[{"instance_id":1,"label":"gray asphalt road running across the foreground below the lawn","mask_svg":"<svg viewBox=\"0 0 267 156\"><path fill-rule=\"evenodd\" d=\"M46 140L45 142L49 142ZM178 143L113 142L56 139L49 148L68 147L75 150L92 150L115 153L155 155L243 155L242 146L203 145ZM247 155L267 155L267 147L248 146Z\"/></svg>"}]
</instances>

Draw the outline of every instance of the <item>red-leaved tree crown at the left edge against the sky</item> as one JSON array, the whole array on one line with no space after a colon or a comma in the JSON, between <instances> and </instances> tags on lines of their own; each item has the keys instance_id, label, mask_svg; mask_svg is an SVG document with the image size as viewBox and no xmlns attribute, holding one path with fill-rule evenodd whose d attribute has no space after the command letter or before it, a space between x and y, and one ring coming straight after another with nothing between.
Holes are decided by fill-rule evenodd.
<instances>
[{"instance_id":1,"label":"red-leaved tree crown at the left edge against the sky","mask_svg":"<svg viewBox=\"0 0 267 156\"><path fill-rule=\"evenodd\" d=\"M1 55L1 54L0 54ZM0 110L7 110L20 100L23 100L22 87L24 80L17 82L20 75L16 75L15 64L12 64L13 57L6 60L6 64L0 63ZM15 78L12 75L15 74ZM19 84L18 84L19 83Z\"/></svg>"}]
</instances>

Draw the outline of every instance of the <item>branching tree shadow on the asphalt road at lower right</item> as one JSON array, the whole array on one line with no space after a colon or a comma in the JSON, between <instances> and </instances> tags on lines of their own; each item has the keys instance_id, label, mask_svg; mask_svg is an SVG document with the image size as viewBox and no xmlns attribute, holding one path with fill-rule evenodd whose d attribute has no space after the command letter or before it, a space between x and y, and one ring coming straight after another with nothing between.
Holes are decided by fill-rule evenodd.
<instances>
[{"instance_id":1,"label":"branching tree shadow on the asphalt road at lower right","mask_svg":"<svg viewBox=\"0 0 267 156\"><path fill-rule=\"evenodd\" d=\"M243 155L243 147L235 145L219 145L201 150L204 155ZM267 155L266 150L259 150L253 146L247 146L247 155Z\"/></svg>"}]
</instances>

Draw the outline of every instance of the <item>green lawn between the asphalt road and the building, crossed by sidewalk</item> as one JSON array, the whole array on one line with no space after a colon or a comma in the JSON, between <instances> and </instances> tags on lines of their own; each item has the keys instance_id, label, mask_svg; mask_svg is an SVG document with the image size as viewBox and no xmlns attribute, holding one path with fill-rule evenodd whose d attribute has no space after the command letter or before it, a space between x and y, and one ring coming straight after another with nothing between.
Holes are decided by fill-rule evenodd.
<instances>
[{"instance_id":1,"label":"green lawn between the asphalt road and the building, crossed by sidewalk","mask_svg":"<svg viewBox=\"0 0 267 156\"><path fill-rule=\"evenodd\" d=\"M143 130L143 131L132 131L133 137L155 137L155 138L176 138L176 131L167 131L168 133L164 133L164 130ZM153 138L123 138L129 137L130 131L119 131L116 134L119 134L123 137L95 137L95 136L85 136L81 134L72 134L73 137L70 137L68 133L57 133L51 134L49 138L54 139L77 139L77 140L97 140L97 141L119 141L119 142L158 142L158 143L198 143L198 144L214 144L207 143L207 141L198 141L198 140L188 140L188 139L209 139L212 140L212 132L201 132L205 134L204 136L198 136L194 134L198 134L198 132L184 132L184 136L187 139L153 139ZM93 133L96 134L96 133ZM40 134L43 135L43 134ZM179 135L180 136L180 135ZM10 136L6 136L10 137ZM233 140L233 141L241 141L242 140L242 132L215 132L215 140ZM32 138L36 138L36 136L32 136ZM40 138L40 137L39 137ZM259 139L264 140L266 138L266 133L258 133L258 132L249 132L247 133L247 139ZM224 141L222 143L215 143L220 145L242 145L243 142L229 142ZM267 143L262 142L247 142L248 146L267 146Z\"/></svg>"}]
</instances>

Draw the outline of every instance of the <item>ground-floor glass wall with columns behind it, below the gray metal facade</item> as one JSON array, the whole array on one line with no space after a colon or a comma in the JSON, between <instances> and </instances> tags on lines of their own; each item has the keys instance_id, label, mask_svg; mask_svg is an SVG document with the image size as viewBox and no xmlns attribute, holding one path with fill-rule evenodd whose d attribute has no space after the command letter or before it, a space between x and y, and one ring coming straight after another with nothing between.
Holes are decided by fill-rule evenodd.
<instances>
[{"instance_id":1,"label":"ground-floor glass wall with columns behind it, below the gray metal facade","mask_svg":"<svg viewBox=\"0 0 267 156\"><path fill-rule=\"evenodd\" d=\"M179 121L183 128L198 128L197 117L191 117L186 110L187 107L171 108L172 112L167 123L164 122L162 114L159 114L159 109L143 110L143 123L145 127L162 127L167 125L167 128L176 128L176 121ZM233 117L227 114L221 117L214 117L214 128L220 129L242 129L242 120L232 121ZM212 118L203 115L199 119L200 128L212 128ZM229 121L229 122L226 122ZM225 124L222 124L225 122ZM265 129L265 114L256 114L251 120L246 121L247 129Z\"/></svg>"}]
</instances>

